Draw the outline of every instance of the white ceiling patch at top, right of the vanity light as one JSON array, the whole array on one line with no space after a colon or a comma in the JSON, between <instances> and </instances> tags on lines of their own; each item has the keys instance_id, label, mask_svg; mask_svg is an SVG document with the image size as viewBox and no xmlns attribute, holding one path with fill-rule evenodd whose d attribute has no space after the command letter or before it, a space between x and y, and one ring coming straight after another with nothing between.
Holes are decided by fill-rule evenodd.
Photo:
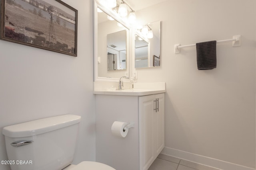
<instances>
[{"instance_id":1,"label":"white ceiling patch at top, right of the vanity light","mask_svg":"<svg viewBox=\"0 0 256 170\"><path fill-rule=\"evenodd\" d=\"M124 0L134 11L159 4L167 0Z\"/></svg>"}]
</instances>

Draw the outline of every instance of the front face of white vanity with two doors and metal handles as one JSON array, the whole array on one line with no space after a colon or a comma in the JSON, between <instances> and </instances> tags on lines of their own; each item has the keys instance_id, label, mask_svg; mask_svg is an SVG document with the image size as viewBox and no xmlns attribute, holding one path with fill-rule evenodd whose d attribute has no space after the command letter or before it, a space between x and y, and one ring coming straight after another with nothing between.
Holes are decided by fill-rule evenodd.
<instances>
[{"instance_id":1,"label":"front face of white vanity with two doors and metal handles","mask_svg":"<svg viewBox=\"0 0 256 170\"><path fill-rule=\"evenodd\" d=\"M164 94L139 97L140 170L147 170L164 148Z\"/></svg>"}]
</instances>

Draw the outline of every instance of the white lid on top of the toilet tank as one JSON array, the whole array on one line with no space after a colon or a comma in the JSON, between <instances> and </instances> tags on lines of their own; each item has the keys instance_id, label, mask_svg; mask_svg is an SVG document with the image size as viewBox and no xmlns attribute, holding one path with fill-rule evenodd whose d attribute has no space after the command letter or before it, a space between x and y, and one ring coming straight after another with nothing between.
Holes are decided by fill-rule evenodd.
<instances>
[{"instance_id":1,"label":"white lid on top of the toilet tank","mask_svg":"<svg viewBox=\"0 0 256 170\"><path fill-rule=\"evenodd\" d=\"M2 133L8 137L30 137L42 133L61 129L70 125L79 123L81 116L78 115L60 115L37 119L16 125L6 126Z\"/></svg>"}]
</instances>

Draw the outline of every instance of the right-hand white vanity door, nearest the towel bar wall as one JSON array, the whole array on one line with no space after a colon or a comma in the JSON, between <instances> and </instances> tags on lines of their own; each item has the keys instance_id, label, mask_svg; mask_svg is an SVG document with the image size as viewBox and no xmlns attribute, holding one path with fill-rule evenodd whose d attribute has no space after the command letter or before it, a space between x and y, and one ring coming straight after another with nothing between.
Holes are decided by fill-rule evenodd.
<instances>
[{"instance_id":1,"label":"right-hand white vanity door, nearest the towel bar wall","mask_svg":"<svg viewBox=\"0 0 256 170\"><path fill-rule=\"evenodd\" d=\"M156 116L156 156L160 154L164 149L164 93L157 94L155 98L158 99L158 111L155 113Z\"/></svg>"}]
</instances>

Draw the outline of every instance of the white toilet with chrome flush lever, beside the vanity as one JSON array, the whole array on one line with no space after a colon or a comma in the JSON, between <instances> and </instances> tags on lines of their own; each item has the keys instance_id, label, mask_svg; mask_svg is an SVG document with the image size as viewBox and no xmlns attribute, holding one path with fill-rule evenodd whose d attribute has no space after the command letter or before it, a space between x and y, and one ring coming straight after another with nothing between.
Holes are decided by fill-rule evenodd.
<instances>
[{"instance_id":1,"label":"white toilet with chrome flush lever, beside the vanity","mask_svg":"<svg viewBox=\"0 0 256 170\"><path fill-rule=\"evenodd\" d=\"M60 115L3 128L12 170L115 170L99 162L71 164L74 158L78 115Z\"/></svg>"}]
</instances>

